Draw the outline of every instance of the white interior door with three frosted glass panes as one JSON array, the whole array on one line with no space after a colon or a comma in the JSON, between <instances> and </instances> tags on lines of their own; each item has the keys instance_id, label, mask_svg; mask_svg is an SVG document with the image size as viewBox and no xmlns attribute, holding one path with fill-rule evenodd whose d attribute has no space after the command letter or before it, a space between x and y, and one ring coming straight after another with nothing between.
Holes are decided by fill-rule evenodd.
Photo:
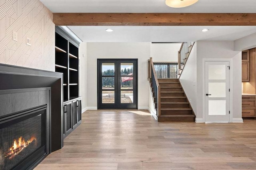
<instances>
[{"instance_id":1,"label":"white interior door with three frosted glass panes","mask_svg":"<svg viewBox=\"0 0 256 170\"><path fill-rule=\"evenodd\" d=\"M206 61L206 122L230 121L229 91L229 61Z\"/></svg>"}]
</instances>

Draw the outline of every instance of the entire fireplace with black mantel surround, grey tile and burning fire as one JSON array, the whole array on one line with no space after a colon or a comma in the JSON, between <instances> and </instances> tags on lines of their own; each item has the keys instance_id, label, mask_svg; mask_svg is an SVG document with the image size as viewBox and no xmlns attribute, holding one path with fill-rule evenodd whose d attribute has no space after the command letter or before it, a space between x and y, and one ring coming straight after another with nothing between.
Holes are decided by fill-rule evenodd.
<instances>
[{"instance_id":1,"label":"entire fireplace with black mantel surround, grey tile and burning fire","mask_svg":"<svg viewBox=\"0 0 256 170\"><path fill-rule=\"evenodd\" d=\"M33 169L63 147L63 75L0 64L0 80L0 170Z\"/></svg>"}]
</instances>

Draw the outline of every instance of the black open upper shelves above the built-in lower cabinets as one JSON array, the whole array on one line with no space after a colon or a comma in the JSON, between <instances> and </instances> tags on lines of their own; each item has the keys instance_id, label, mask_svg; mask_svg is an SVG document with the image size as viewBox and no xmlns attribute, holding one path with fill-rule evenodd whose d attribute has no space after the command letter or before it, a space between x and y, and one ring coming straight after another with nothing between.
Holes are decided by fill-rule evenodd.
<instances>
[{"instance_id":1,"label":"black open upper shelves above the built-in lower cabinets","mask_svg":"<svg viewBox=\"0 0 256 170\"><path fill-rule=\"evenodd\" d=\"M61 28L55 34L55 71L63 73L63 98L69 101L79 97L79 43Z\"/></svg>"}]
</instances>

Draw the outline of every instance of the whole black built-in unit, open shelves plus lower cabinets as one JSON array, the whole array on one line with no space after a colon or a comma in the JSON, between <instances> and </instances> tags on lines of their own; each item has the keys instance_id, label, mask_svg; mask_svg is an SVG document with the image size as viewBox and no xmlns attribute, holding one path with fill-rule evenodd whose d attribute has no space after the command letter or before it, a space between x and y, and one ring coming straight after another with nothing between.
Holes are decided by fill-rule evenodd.
<instances>
[{"instance_id":1,"label":"whole black built-in unit, open shelves plus lower cabinets","mask_svg":"<svg viewBox=\"0 0 256 170\"><path fill-rule=\"evenodd\" d=\"M63 73L63 138L81 123L82 98L79 97L79 42L56 26L55 71Z\"/></svg>"}]
</instances>

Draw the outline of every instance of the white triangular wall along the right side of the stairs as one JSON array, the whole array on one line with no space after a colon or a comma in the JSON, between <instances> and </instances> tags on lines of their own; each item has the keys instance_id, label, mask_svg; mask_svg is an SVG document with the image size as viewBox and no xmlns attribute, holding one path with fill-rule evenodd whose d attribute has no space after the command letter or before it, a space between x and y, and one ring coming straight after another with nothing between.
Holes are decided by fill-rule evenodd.
<instances>
[{"instance_id":1,"label":"white triangular wall along the right side of the stairs","mask_svg":"<svg viewBox=\"0 0 256 170\"><path fill-rule=\"evenodd\" d=\"M186 65L180 76L180 83L188 97L188 100L196 114L197 109L197 91L196 91L196 43L194 44ZM193 84L194 83L194 84Z\"/></svg>"}]
</instances>

